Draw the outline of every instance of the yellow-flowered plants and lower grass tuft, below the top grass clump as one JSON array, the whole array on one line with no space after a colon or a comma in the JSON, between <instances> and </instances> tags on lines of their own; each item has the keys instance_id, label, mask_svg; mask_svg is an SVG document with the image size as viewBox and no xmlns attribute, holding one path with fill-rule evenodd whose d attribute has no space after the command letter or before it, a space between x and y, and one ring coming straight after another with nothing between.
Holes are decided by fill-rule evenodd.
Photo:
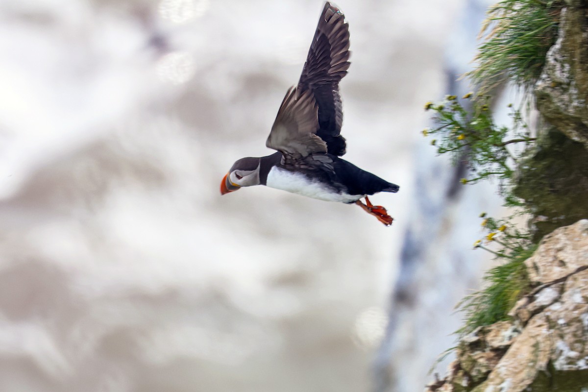
<instances>
[{"instance_id":1,"label":"yellow-flowered plants and lower grass tuft, below the top grass clump","mask_svg":"<svg viewBox=\"0 0 588 392\"><path fill-rule=\"evenodd\" d=\"M449 153L454 162L463 159L466 153L470 176L462 179L462 183L497 179L504 205L514 209L512 216L504 220L482 215L487 234L474 247L493 253L500 264L486 273L485 289L467 296L458 305L466 316L459 334L508 318L510 308L529 290L524 260L536 249L529 231L511 223L516 215L528 212L523 200L512 193L513 176L517 162L536 139L529 136L518 110L510 113L512 126L499 126L489 108L490 98L472 97L473 94L463 97L470 100L469 110L456 96L447 96L439 104L427 102L425 110L435 112L435 127L423 130L423 135L435 137L431 144L436 146L437 153Z\"/></svg>"}]
</instances>

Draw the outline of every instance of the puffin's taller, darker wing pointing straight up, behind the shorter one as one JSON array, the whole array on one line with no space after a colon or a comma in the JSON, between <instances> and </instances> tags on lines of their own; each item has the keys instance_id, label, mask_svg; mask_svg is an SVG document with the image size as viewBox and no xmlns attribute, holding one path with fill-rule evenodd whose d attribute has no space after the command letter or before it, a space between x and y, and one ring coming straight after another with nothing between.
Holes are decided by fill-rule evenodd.
<instances>
[{"instance_id":1,"label":"puffin's taller, darker wing pointing straight up, behind the shorter one","mask_svg":"<svg viewBox=\"0 0 588 392\"><path fill-rule=\"evenodd\" d=\"M312 92L319 107L316 134L325 140L328 152L338 156L345 154L339 81L350 65L349 25L344 19L338 8L325 4L298 82L298 93Z\"/></svg>"}]
</instances>

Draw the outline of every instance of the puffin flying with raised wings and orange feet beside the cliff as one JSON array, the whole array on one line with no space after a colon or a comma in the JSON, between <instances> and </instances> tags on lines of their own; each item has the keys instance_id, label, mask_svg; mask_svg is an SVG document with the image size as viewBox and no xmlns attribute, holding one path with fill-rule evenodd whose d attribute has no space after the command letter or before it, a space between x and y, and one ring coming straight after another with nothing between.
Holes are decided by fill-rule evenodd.
<instances>
[{"instance_id":1,"label":"puffin flying with raised wings and orange feet beside the cliff","mask_svg":"<svg viewBox=\"0 0 588 392\"><path fill-rule=\"evenodd\" d=\"M339 81L350 64L349 25L344 19L338 8L325 4L298 86L288 89L266 142L278 152L235 162L220 183L222 195L266 185L314 199L355 203L384 225L392 224L386 209L372 205L368 195L398 192L399 186L339 158L345 154ZM366 204L360 201L363 197Z\"/></svg>"}]
</instances>

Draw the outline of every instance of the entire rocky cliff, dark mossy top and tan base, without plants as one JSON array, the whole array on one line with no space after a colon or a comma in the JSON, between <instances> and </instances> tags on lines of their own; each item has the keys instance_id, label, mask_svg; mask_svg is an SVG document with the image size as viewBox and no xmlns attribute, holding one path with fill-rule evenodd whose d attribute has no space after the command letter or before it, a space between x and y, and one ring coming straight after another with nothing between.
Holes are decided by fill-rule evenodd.
<instances>
[{"instance_id":1,"label":"entire rocky cliff, dark mossy top and tan base, without plants","mask_svg":"<svg viewBox=\"0 0 588 392\"><path fill-rule=\"evenodd\" d=\"M539 247L510 319L462 336L428 392L588 391L588 1L566 0L534 86L542 118L515 195Z\"/></svg>"}]
</instances>

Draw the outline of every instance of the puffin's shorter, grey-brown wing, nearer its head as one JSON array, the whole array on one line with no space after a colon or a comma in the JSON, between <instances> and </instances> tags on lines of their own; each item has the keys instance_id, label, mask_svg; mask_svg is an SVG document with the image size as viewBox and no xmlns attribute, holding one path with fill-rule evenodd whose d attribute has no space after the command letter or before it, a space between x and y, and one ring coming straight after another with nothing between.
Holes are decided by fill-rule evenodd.
<instances>
[{"instance_id":1,"label":"puffin's shorter, grey-brown wing, nearer its head","mask_svg":"<svg viewBox=\"0 0 588 392\"><path fill-rule=\"evenodd\" d=\"M316 136L319 129L315 98L307 89L298 94L288 89L265 143L282 153L287 160L302 160L315 153L326 153L326 143Z\"/></svg>"}]
</instances>

